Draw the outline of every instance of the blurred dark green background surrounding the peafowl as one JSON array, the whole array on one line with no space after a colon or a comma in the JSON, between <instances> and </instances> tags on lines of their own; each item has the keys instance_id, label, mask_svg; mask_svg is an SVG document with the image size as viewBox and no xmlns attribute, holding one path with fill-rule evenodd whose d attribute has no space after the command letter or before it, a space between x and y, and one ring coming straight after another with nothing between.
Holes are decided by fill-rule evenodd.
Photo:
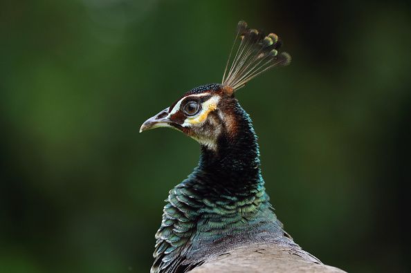
<instances>
[{"instance_id":1,"label":"blurred dark green background surrounding the peafowl","mask_svg":"<svg viewBox=\"0 0 411 273\"><path fill-rule=\"evenodd\" d=\"M0 3L0 272L148 272L199 147L138 129L221 81L239 19L293 57L237 94L286 230L349 272L410 270L409 3L49 0Z\"/></svg>"}]
</instances>

